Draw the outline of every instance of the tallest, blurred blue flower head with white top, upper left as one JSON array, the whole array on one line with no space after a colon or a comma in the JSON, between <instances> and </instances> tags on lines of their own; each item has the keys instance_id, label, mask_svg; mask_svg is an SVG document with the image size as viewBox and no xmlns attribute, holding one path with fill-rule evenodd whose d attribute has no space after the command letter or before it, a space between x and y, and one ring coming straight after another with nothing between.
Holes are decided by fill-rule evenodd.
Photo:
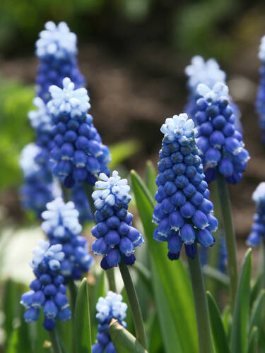
<instances>
[{"instance_id":1,"label":"tallest, blurred blue flower head with white top, upper left","mask_svg":"<svg viewBox=\"0 0 265 353\"><path fill-rule=\"evenodd\" d=\"M36 55L40 60L37 71L37 95L48 102L49 86L61 87L65 77L71 78L76 88L85 84L78 69L76 59L76 35L70 32L65 22L55 25L52 21L45 23L45 30L40 32L36 42Z\"/></svg>"}]
</instances>

